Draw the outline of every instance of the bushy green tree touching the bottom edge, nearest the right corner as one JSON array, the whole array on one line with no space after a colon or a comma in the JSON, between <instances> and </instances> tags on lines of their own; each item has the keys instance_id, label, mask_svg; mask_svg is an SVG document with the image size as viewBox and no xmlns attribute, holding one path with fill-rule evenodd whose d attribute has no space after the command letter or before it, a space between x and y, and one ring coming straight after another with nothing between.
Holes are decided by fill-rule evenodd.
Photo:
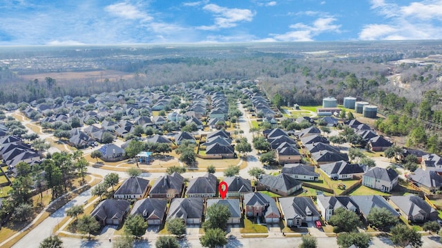
<instances>
[{"instance_id":1,"label":"bushy green tree touching the bottom edge, nearest the right corner","mask_svg":"<svg viewBox=\"0 0 442 248\"><path fill-rule=\"evenodd\" d=\"M422 236L416 230L407 227L406 225L399 224L394 226L391 231L391 238L394 245L399 247L406 247L407 245L411 245L412 247L421 247Z\"/></svg>"}]
</instances>

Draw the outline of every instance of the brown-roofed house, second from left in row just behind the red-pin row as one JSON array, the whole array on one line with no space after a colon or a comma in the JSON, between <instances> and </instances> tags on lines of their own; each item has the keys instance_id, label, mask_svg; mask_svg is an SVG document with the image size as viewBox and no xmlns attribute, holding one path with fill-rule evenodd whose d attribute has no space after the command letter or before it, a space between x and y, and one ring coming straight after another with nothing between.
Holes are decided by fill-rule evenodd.
<instances>
[{"instance_id":1,"label":"brown-roofed house, second from left in row just behind the red-pin row","mask_svg":"<svg viewBox=\"0 0 442 248\"><path fill-rule=\"evenodd\" d=\"M177 198L182 194L184 178L173 172L171 175L160 176L149 192L151 198Z\"/></svg>"}]
</instances>

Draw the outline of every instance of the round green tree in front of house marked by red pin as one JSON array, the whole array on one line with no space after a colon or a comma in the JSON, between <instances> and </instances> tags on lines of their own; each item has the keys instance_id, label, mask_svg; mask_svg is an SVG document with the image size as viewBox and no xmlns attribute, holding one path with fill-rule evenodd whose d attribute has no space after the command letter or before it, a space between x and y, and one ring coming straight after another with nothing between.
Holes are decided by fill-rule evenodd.
<instances>
[{"instance_id":1,"label":"round green tree in front of house marked by red pin","mask_svg":"<svg viewBox=\"0 0 442 248\"><path fill-rule=\"evenodd\" d=\"M225 229L230 216L231 213L227 205L213 204L206 209L206 221L202 227L205 231L215 228Z\"/></svg>"}]
</instances>

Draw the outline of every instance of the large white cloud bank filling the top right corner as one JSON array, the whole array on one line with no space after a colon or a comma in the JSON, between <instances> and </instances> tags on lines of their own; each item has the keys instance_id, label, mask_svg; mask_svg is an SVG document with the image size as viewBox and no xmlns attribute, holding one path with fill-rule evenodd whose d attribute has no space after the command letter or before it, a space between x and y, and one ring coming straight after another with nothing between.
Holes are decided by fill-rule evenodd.
<instances>
[{"instance_id":1,"label":"large white cloud bank filling the top right corner","mask_svg":"<svg viewBox=\"0 0 442 248\"><path fill-rule=\"evenodd\" d=\"M412 2L407 6L372 0L371 9L384 17L359 33L361 40L442 39L442 0Z\"/></svg>"}]
</instances>

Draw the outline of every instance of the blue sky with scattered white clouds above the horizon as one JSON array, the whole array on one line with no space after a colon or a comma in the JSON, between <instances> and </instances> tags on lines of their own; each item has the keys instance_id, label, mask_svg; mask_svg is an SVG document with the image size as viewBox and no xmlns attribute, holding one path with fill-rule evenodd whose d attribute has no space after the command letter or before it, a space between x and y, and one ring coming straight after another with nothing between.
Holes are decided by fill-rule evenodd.
<instances>
[{"instance_id":1,"label":"blue sky with scattered white clouds above the horizon","mask_svg":"<svg viewBox=\"0 0 442 248\"><path fill-rule=\"evenodd\" d=\"M1 0L0 45L442 39L442 0Z\"/></svg>"}]
</instances>

